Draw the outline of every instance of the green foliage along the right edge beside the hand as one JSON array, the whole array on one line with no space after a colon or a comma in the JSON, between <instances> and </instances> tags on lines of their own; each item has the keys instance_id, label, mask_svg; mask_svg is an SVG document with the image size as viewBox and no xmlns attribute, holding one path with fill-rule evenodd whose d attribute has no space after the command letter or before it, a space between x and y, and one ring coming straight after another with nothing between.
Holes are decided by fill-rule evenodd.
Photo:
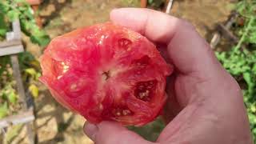
<instances>
[{"instance_id":1,"label":"green foliage along the right edge beside the hand","mask_svg":"<svg viewBox=\"0 0 256 144\"><path fill-rule=\"evenodd\" d=\"M256 142L256 1L238 2L236 10L244 21L242 26L234 28L240 41L229 51L216 52L216 55L242 87Z\"/></svg>"}]
</instances>

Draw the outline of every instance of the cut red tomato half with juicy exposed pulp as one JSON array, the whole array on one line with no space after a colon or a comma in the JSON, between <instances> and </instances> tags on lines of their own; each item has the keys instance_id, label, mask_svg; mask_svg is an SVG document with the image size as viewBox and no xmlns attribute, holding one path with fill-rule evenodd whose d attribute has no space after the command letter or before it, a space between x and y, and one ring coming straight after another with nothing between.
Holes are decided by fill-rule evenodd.
<instances>
[{"instance_id":1,"label":"cut red tomato half with juicy exposed pulp","mask_svg":"<svg viewBox=\"0 0 256 144\"><path fill-rule=\"evenodd\" d=\"M152 42L110 22L54 38L40 62L54 98L93 123L153 121L172 72Z\"/></svg>"}]
</instances>

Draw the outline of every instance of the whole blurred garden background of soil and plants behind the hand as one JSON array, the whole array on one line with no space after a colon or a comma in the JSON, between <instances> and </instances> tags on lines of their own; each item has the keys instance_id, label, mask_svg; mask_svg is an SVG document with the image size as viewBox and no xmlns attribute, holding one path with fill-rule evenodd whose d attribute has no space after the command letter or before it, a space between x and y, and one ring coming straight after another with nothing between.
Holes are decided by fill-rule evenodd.
<instances>
[{"instance_id":1,"label":"whole blurred garden background of soil and plants behind the hand","mask_svg":"<svg viewBox=\"0 0 256 144\"><path fill-rule=\"evenodd\" d=\"M0 46L6 42L11 22L20 20L22 45L18 54L22 82L34 107L34 142L91 144L83 134L85 119L64 109L38 82L41 75L38 58L54 38L83 26L109 20L109 12L118 7L148 7L165 11L167 0L1 0ZM242 87L256 137L256 0L174 0L170 14L194 24L211 43L222 65ZM1 49L1 48L0 48ZM1 51L1 50L0 50ZM0 54L1 55L1 54ZM22 110L10 56L0 57L0 123ZM239 116L238 116L239 117ZM0 124L1 126L1 124ZM142 128L130 127L154 141L164 127L160 119ZM0 130L0 143L30 143L24 124ZM256 141L254 141L256 142Z\"/></svg>"}]
</instances>

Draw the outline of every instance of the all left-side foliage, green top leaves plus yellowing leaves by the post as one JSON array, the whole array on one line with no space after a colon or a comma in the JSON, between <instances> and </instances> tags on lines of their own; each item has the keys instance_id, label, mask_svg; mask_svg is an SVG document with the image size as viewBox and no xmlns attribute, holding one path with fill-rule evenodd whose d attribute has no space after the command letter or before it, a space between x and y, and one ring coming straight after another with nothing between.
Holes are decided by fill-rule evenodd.
<instances>
[{"instance_id":1,"label":"all left-side foliage, green top leaves plus yellowing leaves by the post","mask_svg":"<svg viewBox=\"0 0 256 144\"><path fill-rule=\"evenodd\" d=\"M34 10L25 0L0 1L0 42L5 40L6 33L11 31L11 22L19 19L22 32L30 37L30 41L39 46L46 46L50 42L46 32L37 26ZM36 83L40 76L40 67L36 58L29 52L18 54L22 79L28 83L26 86L34 98L38 97ZM0 118L16 114L21 109L17 91L14 89L15 81L10 64L10 57L0 57Z\"/></svg>"}]
</instances>

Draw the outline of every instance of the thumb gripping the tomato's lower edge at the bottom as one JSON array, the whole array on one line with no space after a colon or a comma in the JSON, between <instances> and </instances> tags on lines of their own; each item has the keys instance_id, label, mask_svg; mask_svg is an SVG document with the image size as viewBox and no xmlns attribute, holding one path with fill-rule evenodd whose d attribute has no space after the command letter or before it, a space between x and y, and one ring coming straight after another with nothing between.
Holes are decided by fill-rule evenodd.
<instances>
[{"instance_id":1,"label":"thumb gripping the tomato's lower edge at the bottom","mask_svg":"<svg viewBox=\"0 0 256 144\"><path fill-rule=\"evenodd\" d=\"M84 126L86 135L98 144L152 144L138 134L127 130L117 122L101 122L97 126L86 122Z\"/></svg>"}]
</instances>

